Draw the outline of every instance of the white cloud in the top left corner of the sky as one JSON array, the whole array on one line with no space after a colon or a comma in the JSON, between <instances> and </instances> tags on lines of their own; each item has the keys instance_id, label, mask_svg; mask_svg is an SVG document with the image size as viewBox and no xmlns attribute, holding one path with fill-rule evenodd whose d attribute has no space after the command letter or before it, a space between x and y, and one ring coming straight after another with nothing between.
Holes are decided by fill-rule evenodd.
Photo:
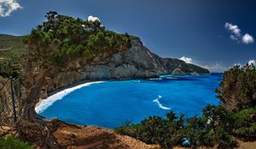
<instances>
[{"instance_id":1,"label":"white cloud in the top left corner of the sky","mask_svg":"<svg viewBox=\"0 0 256 149\"><path fill-rule=\"evenodd\" d=\"M12 12L17 9L22 9L16 0L0 0L0 16L9 16Z\"/></svg>"}]
</instances>

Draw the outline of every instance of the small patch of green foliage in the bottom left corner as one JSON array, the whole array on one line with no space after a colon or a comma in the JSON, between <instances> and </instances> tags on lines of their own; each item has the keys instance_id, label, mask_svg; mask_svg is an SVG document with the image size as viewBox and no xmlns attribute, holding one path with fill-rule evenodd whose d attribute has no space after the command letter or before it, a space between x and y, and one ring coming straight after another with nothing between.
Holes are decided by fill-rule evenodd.
<instances>
[{"instance_id":1,"label":"small patch of green foliage in the bottom left corner","mask_svg":"<svg viewBox=\"0 0 256 149\"><path fill-rule=\"evenodd\" d=\"M6 138L0 138L0 148L4 149L32 149L32 146L28 146L25 142L16 140L13 136Z\"/></svg>"}]
</instances>

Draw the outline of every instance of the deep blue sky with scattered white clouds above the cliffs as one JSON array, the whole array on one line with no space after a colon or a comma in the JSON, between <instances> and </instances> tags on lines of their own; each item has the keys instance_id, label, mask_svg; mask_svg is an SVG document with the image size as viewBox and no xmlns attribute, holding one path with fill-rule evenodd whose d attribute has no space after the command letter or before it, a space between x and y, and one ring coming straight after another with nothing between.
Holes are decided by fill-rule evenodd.
<instances>
[{"instance_id":1,"label":"deep blue sky with scattered white clouds above the cliffs","mask_svg":"<svg viewBox=\"0 0 256 149\"><path fill-rule=\"evenodd\" d=\"M26 35L49 10L140 37L155 54L223 72L256 60L253 0L0 0L0 34Z\"/></svg>"}]
</instances>

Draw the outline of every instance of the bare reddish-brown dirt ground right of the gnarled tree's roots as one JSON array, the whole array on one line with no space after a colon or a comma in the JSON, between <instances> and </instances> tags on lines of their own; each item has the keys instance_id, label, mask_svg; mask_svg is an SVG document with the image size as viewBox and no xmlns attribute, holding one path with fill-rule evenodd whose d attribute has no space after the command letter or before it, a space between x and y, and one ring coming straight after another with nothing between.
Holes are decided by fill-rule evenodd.
<instances>
[{"instance_id":1,"label":"bare reddish-brown dirt ground right of the gnarled tree's roots","mask_svg":"<svg viewBox=\"0 0 256 149\"><path fill-rule=\"evenodd\" d=\"M55 131L55 137L63 148L68 149L155 149L160 146L146 143L126 135L119 135L111 129L102 129L95 126L77 126L61 123Z\"/></svg>"}]
</instances>

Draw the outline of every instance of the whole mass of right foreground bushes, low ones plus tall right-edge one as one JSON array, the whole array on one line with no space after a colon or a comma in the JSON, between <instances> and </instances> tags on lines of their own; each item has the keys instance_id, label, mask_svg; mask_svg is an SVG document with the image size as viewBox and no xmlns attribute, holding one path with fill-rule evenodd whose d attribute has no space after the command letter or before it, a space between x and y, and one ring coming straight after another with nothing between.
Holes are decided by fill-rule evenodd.
<instances>
[{"instance_id":1,"label":"whole mass of right foreground bushes, low ones plus tall right-edge one","mask_svg":"<svg viewBox=\"0 0 256 149\"><path fill-rule=\"evenodd\" d=\"M164 117L148 117L141 123L125 123L115 129L120 134L130 135L149 144L160 144L164 148L181 145L189 140L192 147L215 146L230 148L236 146L236 138L255 140L256 71L253 65L234 66L224 73L218 98L224 100L219 106L206 106L201 117L178 117L168 112ZM230 111L230 103L234 107Z\"/></svg>"}]
</instances>

